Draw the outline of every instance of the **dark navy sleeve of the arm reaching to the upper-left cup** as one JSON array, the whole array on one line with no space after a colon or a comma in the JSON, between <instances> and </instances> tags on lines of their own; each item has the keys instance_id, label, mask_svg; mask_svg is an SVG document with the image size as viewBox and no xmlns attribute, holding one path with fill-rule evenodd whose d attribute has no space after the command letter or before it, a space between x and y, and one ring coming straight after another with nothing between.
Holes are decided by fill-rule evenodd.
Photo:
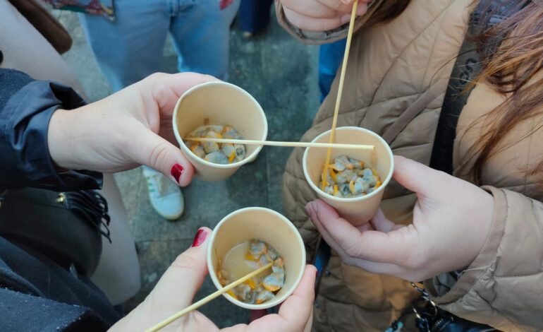
<instances>
[{"instance_id":1,"label":"dark navy sleeve of the arm reaching to the upper-left cup","mask_svg":"<svg viewBox=\"0 0 543 332\"><path fill-rule=\"evenodd\" d=\"M59 173L49 155L51 115L60 108L83 105L85 101L71 88L0 69L0 190L35 187L73 191L102 186L101 173Z\"/></svg>"}]
</instances>

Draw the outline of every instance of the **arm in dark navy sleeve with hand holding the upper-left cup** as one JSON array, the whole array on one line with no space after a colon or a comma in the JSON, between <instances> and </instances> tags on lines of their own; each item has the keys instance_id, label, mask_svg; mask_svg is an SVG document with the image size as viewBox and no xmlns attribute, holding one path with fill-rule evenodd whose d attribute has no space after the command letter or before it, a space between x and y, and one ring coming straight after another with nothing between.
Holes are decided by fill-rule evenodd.
<instances>
[{"instance_id":1,"label":"arm in dark navy sleeve with hand holding the upper-left cup","mask_svg":"<svg viewBox=\"0 0 543 332\"><path fill-rule=\"evenodd\" d=\"M185 90L213 80L157 73L85 105L64 85L0 69L0 188L97 189L100 172L138 165L187 185L193 167L174 145L171 115Z\"/></svg>"}]
</instances>

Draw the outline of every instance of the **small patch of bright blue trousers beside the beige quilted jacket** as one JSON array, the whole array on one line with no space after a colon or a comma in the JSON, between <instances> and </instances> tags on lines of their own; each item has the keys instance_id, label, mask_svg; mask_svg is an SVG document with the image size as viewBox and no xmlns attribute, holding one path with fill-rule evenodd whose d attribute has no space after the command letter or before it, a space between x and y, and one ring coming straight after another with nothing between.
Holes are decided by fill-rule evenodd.
<instances>
[{"instance_id":1,"label":"small patch of bright blue trousers beside the beige quilted jacket","mask_svg":"<svg viewBox=\"0 0 543 332\"><path fill-rule=\"evenodd\" d=\"M330 93L330 87L339 64L343 60L345 54L346 40L338 40L331 44L321 45L319 48L319 89L321 92L320 102Z\"/></svg>"}]
</instances>

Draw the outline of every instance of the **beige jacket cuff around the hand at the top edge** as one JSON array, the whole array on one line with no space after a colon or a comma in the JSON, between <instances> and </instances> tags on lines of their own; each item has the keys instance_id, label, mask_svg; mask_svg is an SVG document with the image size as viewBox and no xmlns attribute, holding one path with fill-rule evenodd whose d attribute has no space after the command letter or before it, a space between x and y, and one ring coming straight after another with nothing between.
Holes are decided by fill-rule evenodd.
<instances>
[{"instance_id":1,"label":"beige jacket cuff around the hand at the top edge","mask_svg":"<svg viewBox=\"0 0 543 332\"><path fill-rule=\"evenodd\" d=\"M365 23L367 23L367 20L372 16L372 13L374 13L374 11L376 11L383 2L384 0L374 0L370 4L370 8L368 8L367 12L364 15L358 16L358 18L356 18L355 31L360 29L363 25L365 25ZM283 11L283 5L281 4L281 0L275 0L275 10L279 25L281 25L297 40L300 40L300 42L304 42L306 44L322 45L329 42L336 42L337 40L341 40L347 37L347 32L349 28L348 23L342 25L339 28L329 31L305 31L295 27L290 22L288 22L288 19L285 16L285 12Z\"/></svg>"}]
</instances>

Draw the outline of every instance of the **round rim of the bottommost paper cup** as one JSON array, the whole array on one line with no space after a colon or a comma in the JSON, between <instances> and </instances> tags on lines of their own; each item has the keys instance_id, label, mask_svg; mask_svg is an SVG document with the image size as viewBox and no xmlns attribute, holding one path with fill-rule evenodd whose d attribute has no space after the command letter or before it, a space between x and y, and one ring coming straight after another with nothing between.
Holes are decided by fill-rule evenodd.
<instances>
[{"instance_id":1,"label":"round rim of the bottommost paper cup","mask_svg":"<svg viewBox=\"0 0 543 332\"><path fill-rule=\"evenodd\" d=\"M248 303L241 302L240 300L234 299L233 297L228 295L228 293L223 294L223 296L226 297L226 300L230 301L233 304L236 304L238 307L242 307L242 308L250 309L250 310L267 309L267 308L275 307L278 304L281 304L289 296L291 296L293 294L294 290L296 289L296 287L298 287L298 285L300 284L300 281L302 280L303 274L304 274L304 271L305 271L305 259L306 258L305 258L305 246L303 244L303 239L300 236L300 232L298 232L298 229L296 229L296 227L293 225L291 220L288 220L288 218L286 218L281 213L276 212L274 210L271 210L269 208L250 207L250 208L241 208L239 210L233 211L232 213L229 213L228 215L226 215L226 217L222 218L222 220L214 227L212 235L209 238L209 244L208 244L208 247L207 247L207 270L209 271L209 278L211 278L211 280L212 280L213 284L215 285L216 289L220 290L223 286L221 285L221 283L219 283L219 280L216 278L216 272L214 271L213 266L212 266L212 254L213 254L213 252L212 252L213 251L213 245L212 244L215 241L215 237L216 237L216 234L217 234L218 230L220 229L220 227L224 223L226 223L228 220L230 220L234 216L243 214L243 213L248 212L248 211L262 211L264 213L271 213L272 215L275 215L276 217L279 217L280 220L282 220L284 223L286 223L286 225L293 230L295 237L298 239L298 244L299 244L301 252L302 252L302 262L303 262L304 266L303 266L303 268L300 269L300 273L296 276L296 279L295 279L295 282L293 283L292 289L289 290L288 292L285 292L280 297L276 296L276 297L274 297L273 300L268 301L268 302L264 302L262 304L248 304Z\"/></svg>"}]
</instances>

